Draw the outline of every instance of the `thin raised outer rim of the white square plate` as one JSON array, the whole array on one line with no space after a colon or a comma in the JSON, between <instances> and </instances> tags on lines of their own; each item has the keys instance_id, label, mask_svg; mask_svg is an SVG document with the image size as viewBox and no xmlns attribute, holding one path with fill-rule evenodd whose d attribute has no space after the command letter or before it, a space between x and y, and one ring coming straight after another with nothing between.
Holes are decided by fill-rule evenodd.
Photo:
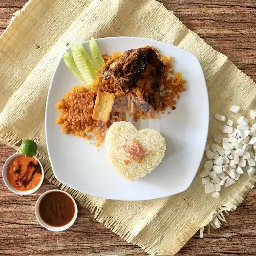
<instances>
[{"instance_id":1,"label":"thin raised outer rim of the white square plate","mask_svg":"<svg viewBox=\"0 0 256 256\"><path fill-rule=\"evenodd\" d=\"M196 60L198 61L199 63L199 66L200 66L200 71L202 72L202 75L204 77L203 79L203 83L204 83L204 90L205 90L205 95L206 95L206 100L207 100L207 110L206 110L206 122L207 122L207 126L206 126L206 136L204 138L204 141L205 143L207 142L207 137L208 137L208 130L209 130L209 96L208 96L208 90L207 90L207 84L206 84L206 80L205 80L205 76L204 76L204 72L203 72L203 68L201 66L201 63L199 61L199 59L191 52L188 52L180 47L177 47L177 46L174 46L172 44L168 44L167 42L162 42L162 41L158 41L158 40L155 40L155 39L151 39L151 38L146 38L146 37L135 37L135 36L113 36L113 37L101 37L101 38L95 38L96 41L104 41L104 40L110 40L110 39L118 39L118 38L129 38L129 39L142 39L142 40L147 40L147 41L152 41L152 42L157 42L157 43L160 43L162 45L166 45L166 46L172 46L174 48L177 48L179 50L182 50L182 51L185 51L186 53L190 54L191 56L193 56L194 58L196 58ZM87 41L83 41L81 42L81 44L88 44L88 42L90 42L90 40L87 40ZM92 194L89 194L89 193L86 193L86 192L82 192L76 188L74 188L73 186L70 186L70 185L67 185L65 182L61 181L61 179L58 178L54 168L53 168L53 165L52 165L52 159L51 159L51 156L49 154L49 145L48 145L48 135L47 135L47 113L48 113L48 106L49 106L49 95L50 95L50 92L51 92L51 89L52 89L52 85L53 85L53 80L54 80L54 77L55 77L55 74L56 74L56 71L60 65L60 62L62 60L62 57L64 55L64 53L66 51L70 51L71 47L68 47L66 48L65 51L63 51L63 53L60 55L59 57L59 60L57 62L57 65L54 69L54 72L53 72L53 75L52 75L52 79L51 79L51 82L50 82L50 86L49 86L49 89L48 89L48 93L47 93L47 100L46 100L46 109L45 109L45 138L46 138L46 145L47 145L47 153L48 153L48 157L49 157L49 160L50 160L50 164L51 164L51 168L52 168L52 172L53 172L53 175L54 177L62 184L62 185L65 185L65 186L68 186L72 189L75 189L81 193L84 193L84 194L87 194L87 195L90 195L90 196L95 196L95 197L101 197L101 196L97 196L97 195L92 195ZM147 200L154 200L154 199L161 199L161 198L165 198L165 197L169 197L169 196L174 196L174 195L177 195L177 194L180 194L182 193L183 191L187 190L190 185L192 184L192 182L194 181L197 173L198 173L198 170L199 170L199 167L200 167L200 164L202 162L202 159L203 159L203 155L204 155L204 150L203 152L201 153L201 157L200 157L200 162L198 163L198 167L197 167L197 172L195 172L195 175L193 177L193 179L191 179L191 181L189 183L187 183L188 185L185 187L185 188L182 188L179 192L175 193L175 194L170 194L168 196L162 196L162 197L151 197L150 199L149 198L145 198L145 199L121 199L121 198L103 198L103 199L109 199L109 200L118 200L118 201L147 201Z\"/></svg>"}]
</instances>

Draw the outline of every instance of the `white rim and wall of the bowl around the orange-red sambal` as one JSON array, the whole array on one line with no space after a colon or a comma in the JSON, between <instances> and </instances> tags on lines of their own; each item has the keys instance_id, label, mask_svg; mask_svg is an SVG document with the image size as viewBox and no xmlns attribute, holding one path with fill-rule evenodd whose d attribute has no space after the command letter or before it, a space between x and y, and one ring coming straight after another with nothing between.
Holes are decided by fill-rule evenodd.
<instances>
[{"instance_id":1,"label":"white rim and wall of the bowl around the orange-red sambal","mask_svg":"<svg viewBox=\"0 0 256 256\"><path fill-rule=\"evenodd\" d=\"M17 195L22 195L22 196L24 196L24 195L30 195L30 194L34 193L34 192L41 186L42 181L44 181L44 177L45 177L44 168L42 168L41 162L40 162L36 157L34 157L34 158L38 161L38 163L39 163L39 165L40 165L40 167L41 167L41 171L42 171L42 177L41 177L41 180L40 180L39 184L38 184L36 187L34 187L34 188L30 189L30 190L26 190L26 191L20 191L20 190L14 188L13 186L11 186L11 184L9 183L9 181L8 181L8 179L7 179L7 167L8 167L8 164L10 163L10 161L11 161L13 158L15 158L16 156L19 156L19 155L23 155L23 154L22 154L22 153L16 153L16 154L10 156L10 157L6 160L6 162L5 162L4 166L3 166L3 180L4 180L5 184L6 184L6 186L7 186L13 193L15 193L15 194L17 194Z\"/></svg>"}]
</instances>

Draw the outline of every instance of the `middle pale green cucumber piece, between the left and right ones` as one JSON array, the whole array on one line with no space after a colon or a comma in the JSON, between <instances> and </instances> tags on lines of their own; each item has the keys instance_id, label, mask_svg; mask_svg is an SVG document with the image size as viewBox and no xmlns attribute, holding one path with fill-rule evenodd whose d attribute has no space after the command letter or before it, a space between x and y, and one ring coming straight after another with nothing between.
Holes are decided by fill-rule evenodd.
<instances>
[{"instance_id":1,"label":"middle pale green cucumber piece, between the left and right ones","mask_svg":"<svg viewBox=\"0 0 256 256\"><path fill-rule=\"evenodd\" d=\"M87 85L91 84L93 82L94 77L96 76L91 57L88 55L86 49L83 48L82 44L73 45L71 47L71 51L76 66L80 71L85 83Z\"/></svg>"}]
</instances>

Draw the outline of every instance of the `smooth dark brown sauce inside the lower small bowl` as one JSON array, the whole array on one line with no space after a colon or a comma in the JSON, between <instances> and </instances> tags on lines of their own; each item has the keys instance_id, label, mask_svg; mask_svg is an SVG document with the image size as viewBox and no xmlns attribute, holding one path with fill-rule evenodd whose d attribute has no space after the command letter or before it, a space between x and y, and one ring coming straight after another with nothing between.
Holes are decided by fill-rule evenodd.
<instances>
[{"instance_id":1,"label":"smooth dark brown sauce inside the lower small bowl","mask_svg":"<svg viewBox=\"0 0 256 256\"><path fill-rule=\"evenodd\" d=\"M52 191L42 197L38 210L41 219L53 227L67 225L75 215L73 200L61 191Z\"/></svg>"}]
</instances>

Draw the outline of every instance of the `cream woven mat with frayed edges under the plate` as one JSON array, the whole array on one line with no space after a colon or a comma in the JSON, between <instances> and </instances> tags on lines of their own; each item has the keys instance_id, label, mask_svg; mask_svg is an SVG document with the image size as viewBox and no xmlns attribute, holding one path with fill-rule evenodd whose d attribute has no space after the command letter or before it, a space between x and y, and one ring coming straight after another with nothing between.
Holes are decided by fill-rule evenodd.
<instances>
[{"instance_id":1,"label":"cream woven mat with frayed edges under the plate","mask_svg":"<svg viewBox=\"0 0 256 256\"><path fill-rule=\"evenodd\" d=\"M23 138L35 140L46 178L52 183L61 185L53 176L45 141L50 80L67 46L92 35L147 37L195 54L209 93L209 138L217 131L216 112L234 118L229 112L233 103L242 106L244 115L256 108L255 83L154 0L31 0L15 13L0 38L0 139L16 149ZM204 193L199 176L179 195L143 202L105 200L63 185L61 189L127 242L151 255L173 255L198 229L209 223L220 227L225 220L223 210L236 209L255 181L256 176L243 176L222 190L219 199Z\"/></svg>"}]
</instances>

